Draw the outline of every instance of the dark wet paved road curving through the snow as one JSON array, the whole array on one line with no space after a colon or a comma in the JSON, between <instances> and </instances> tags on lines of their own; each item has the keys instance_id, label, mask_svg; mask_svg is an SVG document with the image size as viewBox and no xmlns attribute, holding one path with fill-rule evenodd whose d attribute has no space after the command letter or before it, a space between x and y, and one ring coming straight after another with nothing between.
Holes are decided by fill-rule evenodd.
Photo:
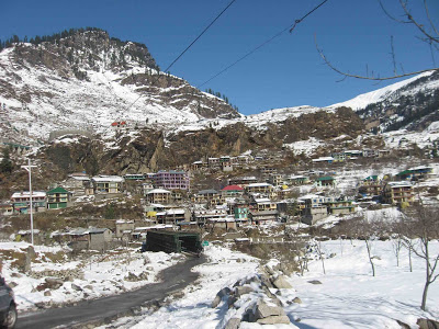
<instances>
[{"instance_id":1,"label":"dark wet paved road curving through the snow","mask_svg":"<svg viewBox=\"0 0 439 329\"><path fill-rule=\"evenodd\" d=\"M191 269L205 261L204 257L188 258L185 262L178 263L161 271L162 282L148 284L144 287L89 302L76 306L50 308L47 310L19 315L16 329L20 328L69 328L79 324L88 324L103 319L112 319L147 302L161 300L167 295L180 291L194 282L199 274Z\"/></svg>"}]
</instances>

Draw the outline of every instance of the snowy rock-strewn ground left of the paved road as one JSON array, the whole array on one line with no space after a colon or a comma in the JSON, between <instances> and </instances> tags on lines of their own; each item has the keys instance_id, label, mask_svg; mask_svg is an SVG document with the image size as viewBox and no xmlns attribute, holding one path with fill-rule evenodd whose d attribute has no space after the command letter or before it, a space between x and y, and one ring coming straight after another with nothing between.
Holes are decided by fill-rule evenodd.
<instances>
[{"instance_id":1,"label":"snowy rock-strewn ground left of the paved road","mask_svg":"<svg viewBox=\"0 0 439 329\"><path fill-rule=\"evenodd\" d=\"M36 259L31 265L33 274L25 274L18 269L15 260L20 256L23 259L30 246L26 242L0 242L2 276L13 286L21 311L134 290L157 282L159 271L183 259L175 253L138 253L135 249L119 249L104 254L85 253L80 259L69 260L66 256L70 252L68 248L35 246ZM41 275L43 272L52 271L55 275L50 276L57 277L56 274L66 274L69 270L80 275L72 273L71 280L64 281L58 288L42 287L47 276Z\"/></svg>"}]
</instances>

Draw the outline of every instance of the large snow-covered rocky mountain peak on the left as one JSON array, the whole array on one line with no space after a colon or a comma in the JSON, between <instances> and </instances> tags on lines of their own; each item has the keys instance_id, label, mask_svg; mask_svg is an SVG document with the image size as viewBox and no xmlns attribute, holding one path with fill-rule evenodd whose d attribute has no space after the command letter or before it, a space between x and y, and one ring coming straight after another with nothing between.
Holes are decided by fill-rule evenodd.
<instances>
[{"instance_id":1,"label":"large snow-covered rocky mountain peak on the left","mask_svg":"<svg viewBox=\"0 0 439 329\"><path fill-rule=\"evenodd\" d=\"M222 99L160 72L146 46L95 29L2 49L0 103L2 136L29 141L59 129L104 133L117 122L169 127L239 116Z\"/></svg>"}]
</instances>

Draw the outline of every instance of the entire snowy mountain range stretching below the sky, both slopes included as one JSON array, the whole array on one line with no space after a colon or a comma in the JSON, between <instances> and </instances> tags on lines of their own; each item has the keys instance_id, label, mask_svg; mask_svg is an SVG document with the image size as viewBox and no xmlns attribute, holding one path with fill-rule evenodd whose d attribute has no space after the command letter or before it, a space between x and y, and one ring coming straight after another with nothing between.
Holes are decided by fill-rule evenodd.
<instances>
[{"instance_id":1,"label":"entire snowy mountain range stretching below the sky, both slopes included","mask_svg":"<svg viewBox=\"0 0 439 329\"><path fill-rule=\"evenodd\" d=\"M98 29L71 30L0 52L0 103L2 137L25 144L72 131L114 137L114 126L121 123L131 131L161 131L166 143L177 134L206 128L239 124L267 132L277 126L273 135L282 132L282 141L291 144L302 139L285 128L289 122L309 122L304 115L317 118L319 112L336 115L341 106L352 107L367 129L424 129L439 121L439 72L328 107L294 106L244 116L224 100L160 72L145 45L112 38ZM336 137L320 134L320 123L314 125L309 123L308 129L318 133L317 138ZM316 137L305 135L303 140Z\"/></svg>"}]
</instances>

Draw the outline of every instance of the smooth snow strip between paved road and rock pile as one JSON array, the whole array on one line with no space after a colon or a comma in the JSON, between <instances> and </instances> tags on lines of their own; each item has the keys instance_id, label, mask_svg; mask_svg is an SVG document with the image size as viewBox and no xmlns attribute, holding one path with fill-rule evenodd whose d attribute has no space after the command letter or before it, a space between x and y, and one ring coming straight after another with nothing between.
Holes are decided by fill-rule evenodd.
<instances>
[{"instance_id":1,"label":"smooth snow strip between paved road and rock pile","mask_svg":"<svg viewBox=\"0 0 439 329\"><path fill-rule=\"evenodd\" d=\"M255 274L259 262L250 256L218 246L206 247L205 254L209 261L193 269L200 273L200 279L184 290L184 297L171 302L153 314L121 318L112 324L111 328L114 326L138 329L217 328L227 308L219 310L211 308L216 293L225 286L232 286L243 277Z\"/></svg>"}]
</instances>

